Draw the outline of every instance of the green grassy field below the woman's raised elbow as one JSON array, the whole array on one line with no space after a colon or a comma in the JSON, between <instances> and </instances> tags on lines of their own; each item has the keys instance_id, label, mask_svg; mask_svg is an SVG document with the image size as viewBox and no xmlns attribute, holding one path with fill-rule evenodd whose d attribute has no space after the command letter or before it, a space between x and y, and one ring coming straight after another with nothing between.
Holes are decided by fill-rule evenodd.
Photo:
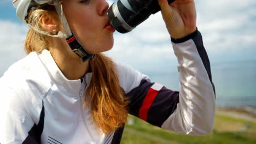
<instances>
[{"instance_id":1,"label":"green grassy field below the woman's raised elbow","mask_svg":"<svg viewBox=\"0 0 256 144\"><path fill-rule=\"evenodd\" d=\"M214 130L205 136L187 136L154 127L129 116L134 124L126 124L122 144L127 143L256 143L256 123L243 118L216 114Z\"/></svg>"}]
</instances>

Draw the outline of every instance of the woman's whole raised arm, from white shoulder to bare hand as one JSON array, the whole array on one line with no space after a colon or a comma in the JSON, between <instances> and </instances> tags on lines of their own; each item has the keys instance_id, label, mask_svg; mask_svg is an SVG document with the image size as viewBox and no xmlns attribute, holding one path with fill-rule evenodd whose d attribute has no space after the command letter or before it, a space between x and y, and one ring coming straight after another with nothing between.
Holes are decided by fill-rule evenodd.
<instances>
[{"instance_id":1,"label":"woman's whole raised arm, from white shoulder to bare hand","mask_svg":"<svg viewBox=\"0 0 256 144\"><path fill-rule=\"evenodd\" d=\"M129 112L177 133L208 134L213 129L215 90L210 61L196 28L195 3L176 0L168 5L167 0L159 0L159 4L178 60L179 92L151 82L136 70L119 67Z\"/></svg>"}]
</instances>

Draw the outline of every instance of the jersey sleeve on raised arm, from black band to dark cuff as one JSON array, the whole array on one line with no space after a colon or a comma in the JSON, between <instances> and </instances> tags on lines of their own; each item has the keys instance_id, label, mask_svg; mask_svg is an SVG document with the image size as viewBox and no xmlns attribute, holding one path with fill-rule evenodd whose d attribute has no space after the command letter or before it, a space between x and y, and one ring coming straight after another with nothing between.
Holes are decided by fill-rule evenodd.
<instances>
[{"instance_id":1,"label":"jersey sleeve on raised arm, from black band to dark cuff","mask_svg":"<svg viewBox=\"0 0 256 144\"><path fill-rule=\"evenodd\" d=\"M127 92L129 111L150 124L188 135L208 134L213 129L215 90L210 61L196 30L186 38L172 39L178 59L179 92L140 77Z\"/></svg>"}]
</instances>

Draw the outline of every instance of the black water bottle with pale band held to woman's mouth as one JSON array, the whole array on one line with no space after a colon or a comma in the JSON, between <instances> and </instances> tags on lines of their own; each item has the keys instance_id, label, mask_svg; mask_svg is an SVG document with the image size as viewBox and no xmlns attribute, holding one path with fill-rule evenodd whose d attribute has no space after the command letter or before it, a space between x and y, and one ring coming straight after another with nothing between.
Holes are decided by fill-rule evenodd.
<instances>
[{"instance_id":1,"label":"black water bottle with pale band held to woman's mouth","mask_svg":"<svg viewBox=\"0 0 256 144\"><path fill-rule=\"evenodd\" d=\"M168 0L171 4L174 0ZM120 33L127 33L160 11L158 0L118 0L108 9L110 25Z\"/></svg>"}]
</instances>

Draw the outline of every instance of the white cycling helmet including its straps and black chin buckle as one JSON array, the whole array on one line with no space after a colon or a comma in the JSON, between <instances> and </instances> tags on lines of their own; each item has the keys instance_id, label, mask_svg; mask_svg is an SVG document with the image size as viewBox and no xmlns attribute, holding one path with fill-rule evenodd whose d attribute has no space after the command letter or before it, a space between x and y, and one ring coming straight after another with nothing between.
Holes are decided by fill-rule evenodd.
<instances>
[{"instance_id":1,"label":"white cycling helmet including its straps and black chin buckle","mask_svg":"<svg viewBox=\"0 0 256 144\"><path fill-rule=\"evenodd\" d=\"M14 8L16 8L16 15L21 19L21 21L27 23L26 16L27 12L33 8L34 6L45 4L48 2L59 2L59 0L14 0L13 5ZM60 17L60 20L62 22L63 28L65 30L66 34L63 34L61 31L58 32L56 35L51 35L49 32L40 31L33 26L31 26L35 31L39 33L43 33L46 35L50 35L51 37L59 37L59 38L65 38L69 46L71 47L72 51L75 52L82 61L89 60L93 58L95 55L90 54L87 52L84 47L79 43L79 41L75 38L75 35L72 34L70 31L70 28L68 26L67 20L65 15L62 13L62 6L61 3L55 5L56 11Z\"/></svg>"}]
</instances>

